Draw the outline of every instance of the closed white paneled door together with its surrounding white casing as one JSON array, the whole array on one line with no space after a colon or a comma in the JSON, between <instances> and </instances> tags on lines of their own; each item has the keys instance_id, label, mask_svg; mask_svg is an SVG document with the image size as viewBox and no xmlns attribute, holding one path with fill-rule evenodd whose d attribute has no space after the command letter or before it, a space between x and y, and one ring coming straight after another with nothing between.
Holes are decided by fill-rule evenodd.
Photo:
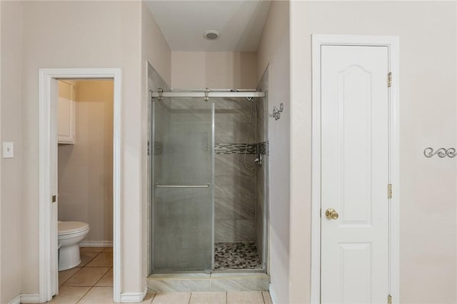
<instances>
[{"instance_id":1,"label":"closed white paneled door together with its surrounding white casing","mask_svg":"<svg viewBox=\"0 0 457 304\"><path fill-rule=\"evenodd\" d=\"M313 36L312 303L398 303L396 40Z\"/></svg>"}]
</instances>

